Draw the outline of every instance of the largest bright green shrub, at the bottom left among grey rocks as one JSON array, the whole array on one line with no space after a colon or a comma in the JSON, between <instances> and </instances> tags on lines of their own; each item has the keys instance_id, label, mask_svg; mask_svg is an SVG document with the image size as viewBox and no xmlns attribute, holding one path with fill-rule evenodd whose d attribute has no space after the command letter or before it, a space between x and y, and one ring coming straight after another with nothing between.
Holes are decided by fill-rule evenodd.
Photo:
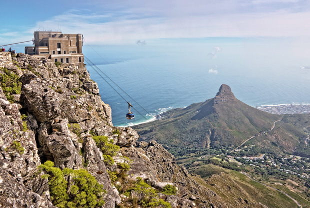
<instances>
[{"instance_id":1,"label":"largest bright green shrub, at the bottom left among grey rocks","mask_svg":"<svg viewBox=\"0 0 310 208\"><path fill-rule=\"evenodd\" d=\"M38 166L38 173L44 170L48 178L50 198L53 205L59 208L72 207L100 207L104 204L103 187L85 169L60 170L54 163L46 161ZM65 176L70 176L70 185L67 185Z\"/></svg>"}]
</instances>

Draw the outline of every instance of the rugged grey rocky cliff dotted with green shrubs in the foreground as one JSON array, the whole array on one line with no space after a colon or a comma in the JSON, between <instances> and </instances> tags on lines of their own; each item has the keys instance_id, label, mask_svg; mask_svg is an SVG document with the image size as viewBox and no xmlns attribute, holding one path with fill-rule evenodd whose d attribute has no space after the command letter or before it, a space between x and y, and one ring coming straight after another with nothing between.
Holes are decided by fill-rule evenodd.
<instances>
[{"instance_id":1,"label":"rugged grey rocky cliff dotted with green shrubs in the foreground","mask_svg":"<svg viewBox=\"0 0 310 208\"><path fill-rule=\"evenodd\" d=\"M133 129L113 127L111 109L85 69L22 53L12 63L0 69L0 207L55 207L55 201L58 207L241 204L226 203L197 183L161 145L137 142ZM88 192L80 191L93 177L104 191L91 197L104 199L103 205L91 204ZM65 185L62 195L53 193L55 184ZM176 192L162 191L166 185ZM69 202L60 201L64 195Z\"/></svg>"}]
</instances>

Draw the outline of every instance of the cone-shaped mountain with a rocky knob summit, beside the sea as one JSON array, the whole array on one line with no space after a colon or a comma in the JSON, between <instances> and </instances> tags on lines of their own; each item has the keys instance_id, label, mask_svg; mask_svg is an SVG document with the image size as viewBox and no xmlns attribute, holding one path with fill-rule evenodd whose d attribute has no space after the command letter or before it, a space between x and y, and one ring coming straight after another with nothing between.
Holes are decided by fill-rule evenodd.
<instances>
[{"instance_id":1,"label":"cone-shaped mountain with a rocky knob summit, beside the sea","mask_svg":"<svg viewBox=\"0 0 310 208\"><path fill-rule=\"evenodd\" d=\"M166 111L160 117L160 120L133 128L141 135L141 139L146 141L157 140L161 144L178 147L227 148L237 147L254 135L262 135L262 132L263 140L266 140L266 137L273 135L266 133L272 128L273 122L282 118L281 115L266 113L239 101L225 84L220 86L214 98L186 108ZM287 125L282 123L281 133L276 138L271 138L279 146L283 143L282 134L285 128L295 131ZM277 130L275 128L272 133ZM293 146L298 143L297 136L294 136L296 134L301 135L302 132L298 130L287 133L281 149L293 151Z\"/></svg>"}]
</instances>

